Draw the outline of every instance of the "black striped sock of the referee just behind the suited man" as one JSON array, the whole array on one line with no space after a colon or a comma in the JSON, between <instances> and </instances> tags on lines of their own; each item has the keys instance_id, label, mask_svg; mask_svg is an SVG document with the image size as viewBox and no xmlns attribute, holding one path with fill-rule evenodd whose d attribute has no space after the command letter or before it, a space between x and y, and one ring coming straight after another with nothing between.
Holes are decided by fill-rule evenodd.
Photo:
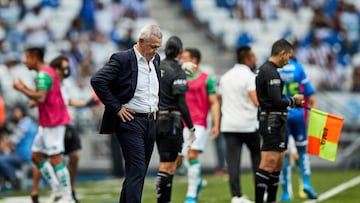
<instances>
[{"instance_id":1,"label":"black striped sock of the referee just behind the suited man","mask_svg":"<svg viewBox=\"0 0 360 203\"><path fill-rule=\"evenodd\" d=\"M159 171L156 177L156 190L158 203L171 202L173 175Z\"/></svg>"}]
</instances>

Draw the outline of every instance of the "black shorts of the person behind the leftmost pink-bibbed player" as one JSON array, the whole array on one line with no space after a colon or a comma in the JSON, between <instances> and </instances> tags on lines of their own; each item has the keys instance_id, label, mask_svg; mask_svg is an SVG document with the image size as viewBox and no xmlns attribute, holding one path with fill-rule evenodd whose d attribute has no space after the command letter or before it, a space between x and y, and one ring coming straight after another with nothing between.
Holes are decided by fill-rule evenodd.
<instances>
[{"instance_id":1,"label":"black shorts of the person behind the leftmost pink-bibbed player","mask_svg":"<svg viewBox=\"0 0 360 203\"><path fill-rule=\"evenodd\" d=\"M81 149L80 136L72 125L66 125L65 129L65 155Z\"/></svg>"}]
</instances>

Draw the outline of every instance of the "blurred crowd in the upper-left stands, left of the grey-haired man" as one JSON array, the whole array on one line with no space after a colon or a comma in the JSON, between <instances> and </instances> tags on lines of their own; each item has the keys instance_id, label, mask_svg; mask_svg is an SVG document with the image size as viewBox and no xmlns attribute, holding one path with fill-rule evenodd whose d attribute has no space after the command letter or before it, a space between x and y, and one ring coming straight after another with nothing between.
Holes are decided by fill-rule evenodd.
<instances>
[{"instance_id":1,"label":"blurred crowd in the upper-left stands, left of the grey-haired man","mask_svg":"<svg viewBox=\"0 0 360 203\"><path fill-rule=\"evenodd\" d=\"M134 22L147 16L144 0L0 0L0 95L7 114L15 103L27 102L13 90L13 81L21 76L34 87L35 73L22 64L25 48L44 47L45 64L67 56L71 77L66 82L74 98L90 98L90 76L116 50L134 45ZM74 118L82 113L87 114L77 112Z\"/></svg>"}]
</instances>

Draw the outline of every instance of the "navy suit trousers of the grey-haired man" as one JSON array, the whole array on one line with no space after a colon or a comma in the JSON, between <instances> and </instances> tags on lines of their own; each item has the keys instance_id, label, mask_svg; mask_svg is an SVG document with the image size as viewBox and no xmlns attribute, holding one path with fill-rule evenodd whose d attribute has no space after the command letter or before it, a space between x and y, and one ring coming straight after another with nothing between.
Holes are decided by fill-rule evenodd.
<instances>
[{"instance_id":1,"label":"navy suit trousers of the grey-haired man","mask_svg":"<svg viewBox=\"0 0 360 203\"><path fill-rule=\"evenodd\" d=\"M154 149L155 120L136 115L127 122L119 119L115 133L125 160L125 180L119 203L141 203L145 176Z\"/></svg>"}]
</instances>

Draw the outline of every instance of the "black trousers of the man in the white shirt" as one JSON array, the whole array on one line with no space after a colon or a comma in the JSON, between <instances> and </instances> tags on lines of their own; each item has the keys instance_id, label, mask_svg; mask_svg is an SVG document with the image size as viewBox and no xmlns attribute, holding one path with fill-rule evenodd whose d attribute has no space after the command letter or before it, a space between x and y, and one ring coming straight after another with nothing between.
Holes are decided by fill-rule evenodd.
<instances>
[{"instance_id":1,"label":"black trousers of the man in the white shirt","mask_svg":"<svg viewBox=\"0 0 360 203\"><path fill-rule=\"evenodd\" d=\"M233 197L240 197L242 196L240 181L242 145L246 144L250 151L252 172L255 178L255 170L259 167L260 164L260 135L258 132L223 132L223 135L226 142L226 162L228 165L231 195Z\"/></svg>"}]
</instances>

